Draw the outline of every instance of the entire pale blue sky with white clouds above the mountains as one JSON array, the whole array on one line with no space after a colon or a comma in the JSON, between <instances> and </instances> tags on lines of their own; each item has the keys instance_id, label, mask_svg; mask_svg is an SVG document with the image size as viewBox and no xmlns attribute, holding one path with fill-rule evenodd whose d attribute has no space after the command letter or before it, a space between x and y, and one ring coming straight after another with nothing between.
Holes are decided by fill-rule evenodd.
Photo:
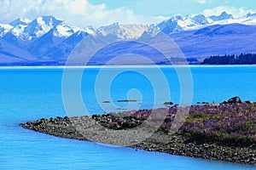
<instances>
[{"instance_id":1,"label":"entire pale blue sky with white clouds above the mountains","mask_svg":"<svg viewBox=\"0 0 256 170\"><path fill-rule=\"evenodd\" d=\"M175 14L218 15L223 11L235 17L256 12L255 0L0 0L0 22L17 18L34 20L53 15L73 26L157 24Z\"/></svg>"}]
</instances>

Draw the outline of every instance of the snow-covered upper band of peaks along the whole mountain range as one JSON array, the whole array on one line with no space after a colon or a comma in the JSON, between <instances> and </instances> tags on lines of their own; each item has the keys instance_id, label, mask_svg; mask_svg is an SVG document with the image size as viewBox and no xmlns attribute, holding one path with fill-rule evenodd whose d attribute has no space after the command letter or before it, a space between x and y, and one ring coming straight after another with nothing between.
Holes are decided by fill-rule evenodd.
<instances>
[{"instance_id":1,"label":"snow-covered upper band of peaks along the whole mountain range","mask_svg":"<svg viewBox=\"0 0 256 170\"><path fill-rule=\"evenodd\" d=\"M194 15L174 15L169 20L164 20L158 25L134 25L113 23L109 26L102 26L96 29L92 26L79 28L70 26L55 17L40 16L35 20L20 18L11 23L0 24L0 37L4 37L8 32L24 41L36 40L44 36L49 31L53 32L54 37L70 37L78 31L87 32L90 35L112 37L117 40L132 40L142 36L154 37L159 31L171 34L177 31L187 31L200 29L205 26L224 25L239 23L245 25L256 25L256 14L248 13L240 18L234 18L232 14L223 12L219 15L206 16L204 14Z\"/></svg>"}]
</instances>

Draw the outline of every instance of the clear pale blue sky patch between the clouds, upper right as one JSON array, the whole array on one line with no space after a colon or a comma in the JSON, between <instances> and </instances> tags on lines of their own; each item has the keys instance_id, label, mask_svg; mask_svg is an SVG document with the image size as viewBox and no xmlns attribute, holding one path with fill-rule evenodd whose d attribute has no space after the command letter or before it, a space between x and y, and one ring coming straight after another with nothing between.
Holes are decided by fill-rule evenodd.
<instances>
[{"instance_id":1,"label":"clear pale blue sky patch between the clouds, upper right","mask_svg":"<svg viewBox=\"0 0 256 170\"><path fill-rule=\"evenodd\" d=\"M90 0L93 4L105 3L109 9L125 7L135 14L146 16L171 16L173 14L198 14L209 8L256 9L255 0Z\"/></svg>"}]
</instances>

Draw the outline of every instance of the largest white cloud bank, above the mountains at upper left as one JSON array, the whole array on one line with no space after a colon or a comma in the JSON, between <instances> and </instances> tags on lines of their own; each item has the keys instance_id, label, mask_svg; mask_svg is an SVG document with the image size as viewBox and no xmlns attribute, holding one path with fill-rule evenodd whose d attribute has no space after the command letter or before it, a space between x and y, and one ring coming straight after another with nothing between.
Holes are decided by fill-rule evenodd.
<instances>
[{"instance_id":1,"label":"largest white cloud bank, above the mountains at upper left","mask_svg":"<svg viewBox=\"0 0 256 170\"><path fill-rule=\"evenodd\" d=\"M53 15L74 26L105 26L114 22L152 24L162 17L136 15L127 8L108 9L106 4L93 5L89 0L1 0L1 22L20 17L35 19L41 15Z\"/></svg>"}]
</instances>

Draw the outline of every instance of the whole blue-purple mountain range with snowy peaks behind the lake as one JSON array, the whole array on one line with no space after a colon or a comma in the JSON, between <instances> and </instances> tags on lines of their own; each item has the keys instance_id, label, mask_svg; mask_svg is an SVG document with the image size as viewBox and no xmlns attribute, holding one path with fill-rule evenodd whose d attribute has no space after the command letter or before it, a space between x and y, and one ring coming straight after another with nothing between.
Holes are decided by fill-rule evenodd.
<instances>
[{"instance_id":1,"label":"whole blue-purple mountain range with snowy peaks behind the lake","mask_svg":"<svg viewBox=\"0 0 256 170\"><path fill-rule=\"evenodd\" d=\"M216 54L256 53L256 14L251 13L240 18L226 12L212 16L175 15L150 26L114 23L99 28L79 28L53 16L41 16L35 20L20 18L9 24L0 24L0 65L64 65L68 55L84 37L121 42L153 38L159 32L171 37L189 59L200 60ZM128 45L120 43L115 48L125 50ZM132 45L132 50L143 51L143 48ZM109 51L98 54L98 60L119 55L119 51L112 52L114 55ZM148 54L154 55L150 56L152 58L159 57L154 53ZM101 61L94 63L101 65Z\"/></svg>"}]
</instances>

